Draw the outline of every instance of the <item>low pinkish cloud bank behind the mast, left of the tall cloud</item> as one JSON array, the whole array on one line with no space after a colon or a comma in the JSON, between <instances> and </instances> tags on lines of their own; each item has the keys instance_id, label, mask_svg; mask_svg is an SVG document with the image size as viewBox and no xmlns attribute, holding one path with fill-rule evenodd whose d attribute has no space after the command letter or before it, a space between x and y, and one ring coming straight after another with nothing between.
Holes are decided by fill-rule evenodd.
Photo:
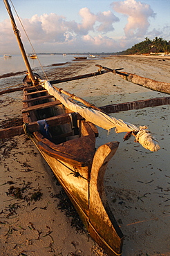
<instances>
[{"instance_id":1,"label":"low pinkish cloud bank behind the mast, left of the tall cloud","mask_svg":"<svg viewBox=\"0 0 170 256\"><path fill-rule=\"evenodd\" d=\"M30 19L21 19L23 27L35 48L40 49L45 46L52 46L57 48L60 44L75 44L79 46L89 44L92 46L111 46L113 39L109 37L102 37L100 34L113 31L113 23L119 21L119 19L113 15L110 10L104 12L97 12L94 14L88 8L82 8L79 10L79 16L82 18L80 23L76 21L67 21L66 17L50 13L49 15L34 15ZM17 22L17 26L21 31L21 38L24 44L27 45L27 39L21 24ZM0 34L0 41L4 38L11 39L14 42L12 28L9 20L3 21L0 24L2 33ZM9 30L10 28L10 30ZM93 37L89 36L89 33L93 33ZM67 47L67 48L68 48ZM49 47L50 48L50 47ZM105 47L106 48L106 47ZM84 51L86 51L84 49Z\"/></svg>"}]
</instances>

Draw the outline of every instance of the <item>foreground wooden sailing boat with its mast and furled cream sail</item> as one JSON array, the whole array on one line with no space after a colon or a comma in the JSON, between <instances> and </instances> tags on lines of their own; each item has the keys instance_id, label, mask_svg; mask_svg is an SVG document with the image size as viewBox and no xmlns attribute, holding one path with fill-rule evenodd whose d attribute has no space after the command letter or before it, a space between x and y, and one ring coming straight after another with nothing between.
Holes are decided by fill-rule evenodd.
<instances>
[{"instance_id":1,"label":"foreground wooden sailing boat with its mast and furled cream sail","mask_svg":"<svg viewBox=\"0 0 170 256\"><path fill-rule=\"evenodd\" d=\"M30 136L68 194L89 235L108 255L121 255L124 236L104 192L104 173L119 143L106 143L95 151L95 125L128 132L125 140L133 134L140 144L151 151L157 151L160 146L146 127L138 128L108 116L85 100L57 89L52 85L54 81L50 84L32 73L8 1L3 1L10 13L28 75L23 80L23 126L1 130L0 138L8 134L23 134L23 131ZM70 98L88 107L72 102Z\"/></svg>"}]
</instances>

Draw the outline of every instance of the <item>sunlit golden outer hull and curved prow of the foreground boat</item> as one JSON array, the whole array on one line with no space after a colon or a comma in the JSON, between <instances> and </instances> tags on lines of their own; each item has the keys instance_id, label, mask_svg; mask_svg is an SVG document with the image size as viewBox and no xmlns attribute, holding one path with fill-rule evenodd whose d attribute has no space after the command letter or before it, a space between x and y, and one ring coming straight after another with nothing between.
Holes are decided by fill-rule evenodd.
<instances>
[{"instance_id":1,"label":"sunlit golden outer hull and curved prow of the foreground boat","mask_svg":"<svg viewBox=\"0 0 170 256\"><path fill-rule=\"evenodd\" d=\"M119 143L114 142L110 144L114 149L111 149L110 156L105 158L104 163L100 165L99 172L96 162L93 163L95 166L92 166L91 169L94 171L94 174L91 172L90 180L85 179L83 176L76 176L73 173L75 169L79 173L88 173L89 167L69 165L64 161L49 156L41 149L39 151L73 203L89 235L106 250L108 255L115 256L122 254L124 236L109 208L104 193L104 179L102 179L102 176L104 176L106 165L110 160L108 158L115 154ZM39 148L38 143L37 147ZM104 151L106 152L106 147L102 150L102 154ZM98 154L97 161L99 161L100 156L101 153Z\"/></svg>"}]
</instances>

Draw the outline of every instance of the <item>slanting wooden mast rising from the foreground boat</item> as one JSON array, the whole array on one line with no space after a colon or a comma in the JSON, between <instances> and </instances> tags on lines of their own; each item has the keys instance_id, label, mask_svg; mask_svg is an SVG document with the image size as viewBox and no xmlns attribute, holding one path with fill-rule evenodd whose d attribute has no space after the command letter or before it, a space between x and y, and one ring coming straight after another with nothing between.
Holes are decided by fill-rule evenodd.
<instances>
[{"instance_id":1,"label":"slanting wooden mast rising from the foreground boat","mask_svg":"<svg viewBox=\"0 0 170 256\"><path fill-rule=\"evenodd\" d=\"M20 48L20 51L21 51L21 54L22 54L22 57L23 57L23 61L25 62L26 68L27 68L28 73L30 75L30 79L32 80L32 83L35 84L35 77L34 77L34 75L32 73L32 69L30 67L30 63L28 62L28 58L26 56L26 51L23 48L23 44L21 42L21 37L19 35L19 30L17 28L17 25L15 24L15 19L14 19L13 15L12 15L12 11L11 11L10 5L8 3L8 0L3 0L3 2L5 3L6 9L8 11L8 14L10 15L10 21L11 21L11 24L12 24L12 28L13 28L13 31L15 33L15 36L17 37L17 42L19 44L19 48Z\"/></svg>"}]
</instances>

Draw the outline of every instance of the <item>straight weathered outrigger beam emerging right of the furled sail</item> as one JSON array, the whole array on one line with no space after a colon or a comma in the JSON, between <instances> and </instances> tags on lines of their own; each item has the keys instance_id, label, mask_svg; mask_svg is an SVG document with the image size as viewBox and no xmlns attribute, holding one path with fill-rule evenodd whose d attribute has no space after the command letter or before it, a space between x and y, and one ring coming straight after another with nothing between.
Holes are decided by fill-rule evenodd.
<instances>
[{"instance_id":1,"label":"straight weathered outrigger beam emerging right of the furled sail","mask_svg":"<svg viewBox=\"0 0 170 256\"><path fill-rule=\"evenodd\" d=\"M124 102L110 104L100 107L106 113L116 113L119 111L127 111L132 109L143 109L145 107L156 107L170 104L170 97L153 98L148 100L136 100L132 102Z\"/></svg>"}]
</instances>

